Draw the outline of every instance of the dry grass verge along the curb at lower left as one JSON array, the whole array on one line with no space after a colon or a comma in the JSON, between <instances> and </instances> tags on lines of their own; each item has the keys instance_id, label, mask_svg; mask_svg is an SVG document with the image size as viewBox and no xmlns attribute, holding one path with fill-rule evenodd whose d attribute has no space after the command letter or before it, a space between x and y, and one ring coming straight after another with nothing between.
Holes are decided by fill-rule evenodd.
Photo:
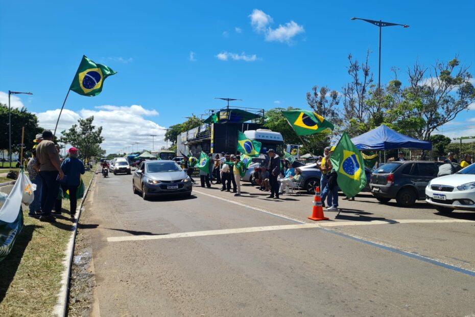
<instances>
[{"instance_id":1,"label":"dry grass verge along the curb at lower left","mask_svg":"<svg viewBox=\"0 0 475 317\"><path fill-rule=\"evenodd\" d=\"M87 187L93 170L82 177ZM80 200L78 200L78 206ZM71 235L69 200L56 223L28 217L11 254L0 262L0 316L51 316L61 287L64 251Z\"/></svg>"}]
</instances>

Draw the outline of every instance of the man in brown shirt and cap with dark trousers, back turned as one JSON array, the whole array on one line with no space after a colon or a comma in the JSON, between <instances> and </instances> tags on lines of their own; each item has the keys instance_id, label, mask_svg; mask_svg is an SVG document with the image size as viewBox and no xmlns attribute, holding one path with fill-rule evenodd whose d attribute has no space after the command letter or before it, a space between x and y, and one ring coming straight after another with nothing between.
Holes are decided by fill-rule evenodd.
<instances>
[{"instance_id":1,"label":"man in brown shirt and cap with dark trousers, back turned","mask_svg":"<svg viewBox=\"0 0 475 317\"><path fill-rule=\"evenodd\" d=\"M41 197L43 212L40 220L55 222L56 219L51 215L51 211L59 191L57 178L62 180L64 173L59 163L59 153L53 142L53 133L50 130L44 130L42 136L43 141L36 147L37 166L39 166L39 174L43 180L43 194Z\"/></svg>"}]
</instances>

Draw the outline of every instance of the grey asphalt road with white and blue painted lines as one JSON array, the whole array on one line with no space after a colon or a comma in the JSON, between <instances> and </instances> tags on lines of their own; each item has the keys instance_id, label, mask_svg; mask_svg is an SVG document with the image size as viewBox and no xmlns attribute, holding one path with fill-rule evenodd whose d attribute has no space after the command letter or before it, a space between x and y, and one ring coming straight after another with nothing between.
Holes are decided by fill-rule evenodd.
<instances>
[{"instance_id":1,"label":"grey asphalt road with white and blue painted lines","mask_svg":"<svg viewBox=\"0 0 475 317\"><path fill-rule=\"evenodd\" d=\"M144 201L132 176L98 176L80 221L93 315L475 314L475 213L366 194L314 222L313 196L276 201L249 185L234 197L215 185Z\"/></svg>"}]
</instances>

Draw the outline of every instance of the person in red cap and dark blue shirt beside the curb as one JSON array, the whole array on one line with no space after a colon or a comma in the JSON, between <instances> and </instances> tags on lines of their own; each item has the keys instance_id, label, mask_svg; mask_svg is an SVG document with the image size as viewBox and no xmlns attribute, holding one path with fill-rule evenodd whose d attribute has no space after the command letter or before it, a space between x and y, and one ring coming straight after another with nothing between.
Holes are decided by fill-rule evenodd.
<instances>
[{"instance_id":1,"label":"person in red cap and dark blue shirt beside the curb","mask_svg":"<svg viewBox=\"0 0 475 317\"><path fill-rule=\"evenodd\" d=\"M61 164L61 170L64 172L66 177L66 182L61 185L63 189L63 193L69 191L69 211L71 217L74 217L76 214L76 207L77 207L77 197L76 192L81 185L81 174L84 174L84 164L81 160L78 159L79 153L78 149L75 147L69 148L67 150L68 157L63 161ZM56 209L56 213L61 212L61 208Z\"/></svg>"}]
</instances>

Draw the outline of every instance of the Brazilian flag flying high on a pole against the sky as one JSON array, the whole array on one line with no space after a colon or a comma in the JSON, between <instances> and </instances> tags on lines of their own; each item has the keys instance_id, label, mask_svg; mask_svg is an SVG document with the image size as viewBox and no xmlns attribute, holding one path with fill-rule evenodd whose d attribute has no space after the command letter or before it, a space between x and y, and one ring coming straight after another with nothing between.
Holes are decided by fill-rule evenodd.
<instances>
[{"instance_id":1,"label":"Brazilian flag flying high on a pole against the sky","mask_svg":"<svg viewBox=\"0 0 475 317\"><path fill-rule=\"evenodd\" d=\"M84 55L69 89L79 95L97 96L102 92L104 80L114 74L106 65L96 64Z\"/></svg>"}]
</instances>

